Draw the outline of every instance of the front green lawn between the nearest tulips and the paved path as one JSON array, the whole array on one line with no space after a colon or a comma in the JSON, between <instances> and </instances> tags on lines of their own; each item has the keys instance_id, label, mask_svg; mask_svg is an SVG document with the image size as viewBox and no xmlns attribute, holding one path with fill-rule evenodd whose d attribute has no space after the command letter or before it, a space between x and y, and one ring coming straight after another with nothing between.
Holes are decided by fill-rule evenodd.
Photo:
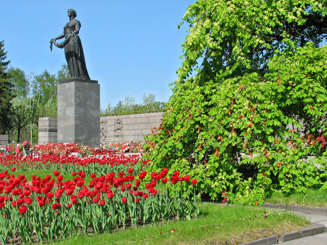
<instances>
[{"instance_id":1,"label":"front green lawn between the nearest tulips and the paved path","mask_svg":"<svg viewBox=\"0 0 327 245\"><path fill-rule=\"evenodd\" d=\"M309 224L310 222L286 212L204 204L200 208L198 218L191 221L159 223L155 226L129 228L98 236L76 234L69 239L51 244L232 245L273 234L281 235ZM172 232L172 229L175 231Z\"/></svg>"}]
</instances>

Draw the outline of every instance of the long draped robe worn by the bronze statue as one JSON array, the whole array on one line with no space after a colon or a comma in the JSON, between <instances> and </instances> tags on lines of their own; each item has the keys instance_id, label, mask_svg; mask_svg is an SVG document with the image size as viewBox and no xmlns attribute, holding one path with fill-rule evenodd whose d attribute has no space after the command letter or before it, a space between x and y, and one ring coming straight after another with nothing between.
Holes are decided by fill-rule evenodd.
<instances>
[{"instance_id":1,"label":"long draped robe worn by the bronze statue","mask_svg":"<svg viewBox=\"0 0 327 245\"><path fill-rule=\"evenodd\" d=\"M80 27L80 22L76 19L68 22L64 27L65 38L67 39L70 34L76 31L76 26ZM82 42L78 37L78 33L69 40L65 45L65 56L67 60L68 69L72 78L89 79L89 74L85 65L84 52Z\"/></svg>"}]
</instances>

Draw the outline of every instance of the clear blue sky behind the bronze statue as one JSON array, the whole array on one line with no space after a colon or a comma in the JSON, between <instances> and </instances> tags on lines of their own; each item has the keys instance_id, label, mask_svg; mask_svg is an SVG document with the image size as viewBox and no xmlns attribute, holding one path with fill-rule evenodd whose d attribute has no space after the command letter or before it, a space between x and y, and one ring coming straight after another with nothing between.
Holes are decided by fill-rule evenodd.
<instances>
[{"instance_id":1,"label":"clear blue sky behind the bronze statue","mask_svg":"<svg viewBox=\"0 0 327 245\"><path fill-rule=\"evenodd\" d=\"M86 67L100 84L100 104L107 107L124 101L126 95L142 103L143 93L168 101L168 86L181 67L181 43L187 25L177 29L195 0L89 0L1 1L0 41L4 40L10 65L25 74L56 74L66 63L63 49L50 39L62 33L69 21L68 8L81 22ZM59 40L63 41L63 39Z\"/></svg>"}]
</instances>

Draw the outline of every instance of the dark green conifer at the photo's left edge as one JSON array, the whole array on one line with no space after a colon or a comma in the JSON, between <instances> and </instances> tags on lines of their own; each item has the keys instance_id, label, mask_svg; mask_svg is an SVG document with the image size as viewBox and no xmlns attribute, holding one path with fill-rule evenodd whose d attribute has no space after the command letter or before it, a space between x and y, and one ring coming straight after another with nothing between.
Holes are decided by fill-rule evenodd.
<instances>
[{"instance_id":1,"label":"dark green conifer at the photo's left edge","mask_svg":"<svg viewBox=\"0 0 327 245\"><path fill-rule=\"evenodd\" d=\"M7 59L7 51L4 49L4 41L0 41L0 134L4 134L10 127L10 107L12 84L9 82L7 68L10 60Z\"/></svg>"}]
</instances>

